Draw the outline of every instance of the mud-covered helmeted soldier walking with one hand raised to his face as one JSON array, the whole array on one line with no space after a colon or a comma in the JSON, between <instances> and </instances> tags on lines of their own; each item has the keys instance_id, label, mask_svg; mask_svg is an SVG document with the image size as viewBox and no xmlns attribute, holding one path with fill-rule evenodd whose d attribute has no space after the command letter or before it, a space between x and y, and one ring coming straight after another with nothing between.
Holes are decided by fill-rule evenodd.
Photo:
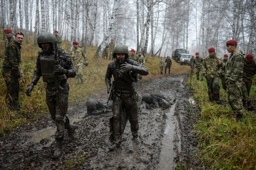
<instances>
[{"instance_id":1,"label":"mud-covered helmeted soldier walking with one hand raised to his face","mask_svg":"<svg viewBox=\"0 0 256 170\"><path fill-rule=\"evenodd\" d=\"M133 82L137 79L137 74L146 76L148 69L128 57L129 50L120 44L114 48L113 58L116 60L107 66L105 82L107 92L112 93L113 117L110 118L110 141L112 145L109 150L114 150L121 144L121 136L129 119L133 138L138 138L138 105L137 92ZM113 91L111 89L111 78L114 78Z\"/></svg>"}]
</instances>

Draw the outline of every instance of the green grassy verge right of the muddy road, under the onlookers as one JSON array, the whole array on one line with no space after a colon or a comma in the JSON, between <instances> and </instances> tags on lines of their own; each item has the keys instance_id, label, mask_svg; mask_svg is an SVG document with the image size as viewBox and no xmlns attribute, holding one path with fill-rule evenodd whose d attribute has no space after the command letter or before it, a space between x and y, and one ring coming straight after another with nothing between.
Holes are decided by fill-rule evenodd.
<instances>
[{"instance_id":1,"label":"green grassy verge right of the muddy road, under the onlookers","mask_svg":"<svg viewBox=\"0 0 256 170\"><path fill-rule=\"evenodd\" d=\"M190 84L188 78L187 85ZM254 98L255 80L251 88ZM192 91L201 109L201 119L195 125L198 140L199 163L205 169L256 169L256 114L245 110L244 117L235 122L228 102L209 102L206 81L192 78ZM220 98L227 100L227 93L220 90Z\"/></svg>"}]
</instances>

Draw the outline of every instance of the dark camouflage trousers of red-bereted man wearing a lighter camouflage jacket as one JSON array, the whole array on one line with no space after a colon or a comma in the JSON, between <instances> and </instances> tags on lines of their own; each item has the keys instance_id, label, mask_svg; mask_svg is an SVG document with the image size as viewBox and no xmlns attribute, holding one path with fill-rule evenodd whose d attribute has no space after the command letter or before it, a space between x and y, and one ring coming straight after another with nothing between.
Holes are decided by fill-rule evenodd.
<instances>
[{"instance_id":1,"label":"dark camouflage trousers of red-bereted man wearing a lighter camouflage jacket","mask_svg":"<svg viewBox=\"0 0 256 170\"><path fill-rule=\"evenodd\" d=\"M220 83L219 76L215 76L214 78L206 77L207 87L208 87L208 95L210 101L216 101L220 98Z\"/></svg>"}]
</instances>

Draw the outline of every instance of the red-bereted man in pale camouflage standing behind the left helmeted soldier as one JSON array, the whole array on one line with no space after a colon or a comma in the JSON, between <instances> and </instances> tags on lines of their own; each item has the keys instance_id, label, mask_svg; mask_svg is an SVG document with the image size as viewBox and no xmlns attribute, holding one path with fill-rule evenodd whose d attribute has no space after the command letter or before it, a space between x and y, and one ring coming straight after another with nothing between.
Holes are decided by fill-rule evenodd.
<instances>
[{"instance_id":1,"label":"red-bereted man in pale camouflage standing behind the left helmeted soldier","mask_svg":"<svg viewBox=\"0 0 256 170\"><path fill-rule=\"evenodd\" d=\"M76 73L75 83L76 83L76 85L79 84L79 79L81 80L81 84L84 83L83 65L85 65L85 67L87 67L89 65L87 57L85 56L83 49L79 48L78 44L79 43L77 41L73 41L73 48L69 52L69 54L71 55L73 66L75 68L75 73ZM84 60L84 63L83 63L82 59Z\"/></svg>"}]
</instances>

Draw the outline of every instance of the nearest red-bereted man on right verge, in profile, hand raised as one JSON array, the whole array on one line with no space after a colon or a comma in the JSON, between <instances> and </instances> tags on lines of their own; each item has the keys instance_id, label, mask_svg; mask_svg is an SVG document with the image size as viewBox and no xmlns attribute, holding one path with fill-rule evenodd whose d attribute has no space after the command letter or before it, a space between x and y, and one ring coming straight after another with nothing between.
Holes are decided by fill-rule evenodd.
<instances>
[{"instance_id":1,"label":"nearest red-bereted man on right verge, in profile, hand raised","mask_svg":"<svg viewBox=\"0 0 256 170\"><path fill-rule=\"evenodd\" d=\"M225 84L228 93L229 104L236 115L236 121L243 117L243 103L241 94L242 73L244 68L244 56L241 50L237 50L237 41L228 40L226 49L230 54L227 64L217 60L217 64L225 69Z\"/></svg>"}]
</instances>

